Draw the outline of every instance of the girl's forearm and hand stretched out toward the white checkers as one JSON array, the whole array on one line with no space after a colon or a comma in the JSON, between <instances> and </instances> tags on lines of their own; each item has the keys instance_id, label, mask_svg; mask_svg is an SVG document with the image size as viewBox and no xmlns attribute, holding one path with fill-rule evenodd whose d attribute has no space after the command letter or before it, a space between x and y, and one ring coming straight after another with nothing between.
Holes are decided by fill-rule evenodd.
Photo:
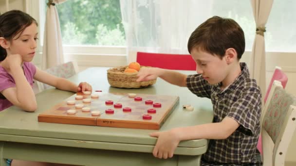
<instances>
[{"instance_id":1,"label":"girl's forearm and hand stretched out toward the white checkers","mask_svg":"<svg viewBox=\"0 0 296 166\"><path fill-rule=\"evenodd\" d=\"M57 89L61 89L61 90L72 91L72 92L92 91L92 86L88 83L83 82L83 83L79 83L79 85L76 85L75 83L72 83L71 81L65 78L56 77L38 68L36 69L36 74L34 76L34 79L36 79L39 82L54 86Z\"/></svg>"}]
</instances>

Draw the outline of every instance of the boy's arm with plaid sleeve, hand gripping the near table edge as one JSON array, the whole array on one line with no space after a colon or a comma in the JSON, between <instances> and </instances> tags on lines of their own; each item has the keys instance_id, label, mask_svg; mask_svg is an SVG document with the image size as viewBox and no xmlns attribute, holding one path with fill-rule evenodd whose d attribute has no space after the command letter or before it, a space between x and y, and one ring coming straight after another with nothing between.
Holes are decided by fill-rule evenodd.
<instances>
[{"instance_id":1,"label":"boy's arm with plaid sleeve, hand gripping the near table edge","mask_svg":"<svg viewBox=\"0 0 296 166\"><path fill-rule=\"evenodd\" d=\"M254 134L260 119L261 92L256 83L250 82L245 85L244 89L240 88L237 98L238 100L232 104L221 122L151 133L151 136L159 137L153 149L153 155L159 158L172 157L181 140L226 139L236 130L244 134Z\"/></svg>"}]
</instances>

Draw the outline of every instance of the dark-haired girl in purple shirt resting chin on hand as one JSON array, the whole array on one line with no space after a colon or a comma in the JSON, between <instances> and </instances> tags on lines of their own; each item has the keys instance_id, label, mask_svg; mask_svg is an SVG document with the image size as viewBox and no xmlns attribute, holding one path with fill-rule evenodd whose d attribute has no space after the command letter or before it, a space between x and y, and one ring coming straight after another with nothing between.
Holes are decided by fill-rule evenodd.
<instances>
[{"instance_id":1,"label":"dark-haired girl in purple shirt resting chin on hand","mask_svg":"<svg viewBox=\"0 0 296 166\"><path fill-rule=\"evenodd\" d=\"M37 47L37 21L28 14L12 10L0 15L0 111L16 105L34 112L37 102L33 79L67 91L92 91L88 83L76 85L39 70L30 63ZM48 166L49 163L7 160L10 166Z\"/></svg>"}]
</instances>

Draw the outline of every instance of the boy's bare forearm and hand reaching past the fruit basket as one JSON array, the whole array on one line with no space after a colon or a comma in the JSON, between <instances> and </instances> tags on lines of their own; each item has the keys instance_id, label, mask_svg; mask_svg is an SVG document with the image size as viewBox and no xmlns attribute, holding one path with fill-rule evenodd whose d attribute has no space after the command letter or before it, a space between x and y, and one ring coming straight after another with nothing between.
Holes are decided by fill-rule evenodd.
<instances>
[{"instance_id":1,"label":"boy's bare forearm and hand reaching past the fruit basket","mask_svg":"<svg viewBox=\"0 0 296 166\"><path fill-rule=\"evenodd\" d=\"M143 67L137 75L137 82L154 80L157 77L162 78L168 83L186 87L187 75L163 68Z\"/></svg>"}]
</instances>

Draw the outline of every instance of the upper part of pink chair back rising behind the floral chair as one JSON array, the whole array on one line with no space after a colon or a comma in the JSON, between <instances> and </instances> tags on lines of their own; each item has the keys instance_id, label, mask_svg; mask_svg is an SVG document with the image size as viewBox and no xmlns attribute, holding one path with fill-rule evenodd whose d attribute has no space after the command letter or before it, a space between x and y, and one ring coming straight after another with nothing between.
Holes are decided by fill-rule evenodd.
<instances>
[{"instance_id":1,"label":"upper part of pink chair back rising behind the floral chair","mask_svg":"<svg viewBox=\"0 0 296 166\"><path fill-rule=\"evenodd\" d=\"M268 95L269 95L269 92L270 92L270 88L271 88L271 86L272 86L272 84L274 83L275 80L281 82L283 88L286 87L286 84L288 82L287 75L278 66L276 66L275 72L274 72L274 74L273 74L273 76L271 78L271 81L270 81L269 85L268 85L267 92L266 92L265 98L264 98L264 102L265 103L266 103L266 100L268 98Z\"/></svg>"}]
</instances>

